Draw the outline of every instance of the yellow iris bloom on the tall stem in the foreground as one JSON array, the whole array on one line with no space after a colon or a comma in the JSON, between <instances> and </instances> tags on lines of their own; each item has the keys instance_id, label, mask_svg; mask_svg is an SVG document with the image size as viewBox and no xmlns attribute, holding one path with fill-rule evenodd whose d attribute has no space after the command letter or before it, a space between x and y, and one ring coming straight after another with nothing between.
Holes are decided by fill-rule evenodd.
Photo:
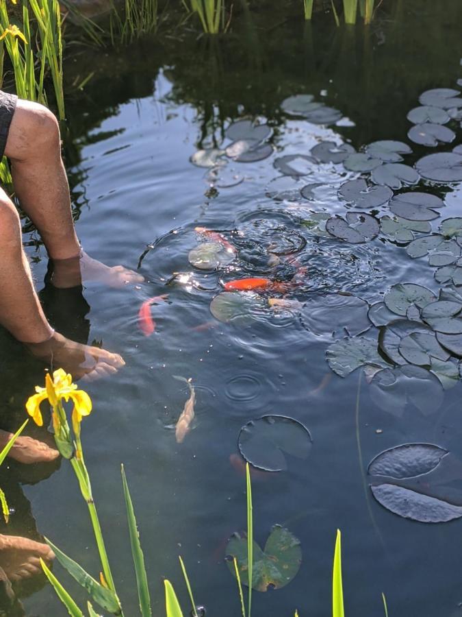
<instances>
[{"instance_id":1,"label":"yellow iris bloom on the tall stem in the foreground","mask_svg":"<svg viewBox=\"0 0 462 617\"><path fill-rule=\"evenodd\" d=\"M43 425L42 412L40 411L40 403L44 400L49 400L52 407L56 407L60 400L66 402L72 400L74 409L72 412L72 421L74 428L79 428L84 415L90 415L92 411L92 401L90 396L84 390L77 390L77 385L73 383L72 376L66 373L63 369L58 369L53 373L53 380L49 373L45 377L45 387L36 386L36 394L29 397L26 402L27 413L34 419L38 426Z\"/></svg>"}]
</instances>

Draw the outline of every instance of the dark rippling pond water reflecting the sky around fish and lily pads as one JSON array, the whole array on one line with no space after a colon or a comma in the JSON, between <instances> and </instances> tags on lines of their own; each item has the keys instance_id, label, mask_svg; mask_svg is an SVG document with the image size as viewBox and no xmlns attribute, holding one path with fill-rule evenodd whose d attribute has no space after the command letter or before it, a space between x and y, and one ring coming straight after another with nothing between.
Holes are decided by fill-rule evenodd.
<instances>
[{"instance_id":1,"label":"dark rippling pond water reflecting the sky around fish and lily pads","mask_svg":"<svg viewBox=\"0 0 462 617\"><path fill-rule=\"evenodd\" d=\"M425 369L420 369L424 379L401 375L390 387L389 381L372 378L370 369L365 375L362 367L344 371L342 377L326 362L334 343L335 365L335 341L347 332L377 341L375 326L362 334L367 315L352 297L374 304L399 283L422 285L435 294L448 283L435 280L436 267L426 256L411 258L406 243L396 243L390 235L396 230L387 232L383 221L364 243L325 232L327 218L345 217L348 211L375 219L394 216L389 197L359 209L339 196L343 184L359 178L342 162L298 156L292 165L300 177L290 175L292 167L274 181L291 162L281 157L309 156L322 141L356 150L378 140L404 141L412 149L402 154L409 166L427 154L451 152L461 142L460 117L446 124L456 134L451 143L428 147L407 137L412 127L407 114L419 106L420 95L430 88L457 88L462 77L460 3L386 4L369 30L335 29L331 17L323 15L305 26L295 12L287 18L279 8L237 14L233 32L214 42L183 34L176 40L143 41L125 54L70 54L63 137L77 232L88 253L110 265L138 268L145 277L138 287L88 285L83 295L43 292L51 319L65 335L101 341L127 362L116 378L86 387L95 411L84 422L83 437L127 615L136 614L138 601L120 463L136 506L153 614L164 614L163 576L175 583L188 606L177 561L181 554L207 615L231 617L239 614L239 603L225 547L231 533L246 526L238 436L244 424L268 414L302 422L313 444L306 459L287 457L287 470L253 476L255 539L263 546L272 525L281 523L298 537L303 552L290 585L255 592L255 616L289 616L296 608L300 616L329 614L337 528L343 535L348 614L383 614L385 592L390 615L462 615L461 520L424 524L396 516L374 500L366 477L376 455L401 444L437 444L454 461L462 460L457 363L441 359L445 365L434 367L440 376L450 374L452 387L443 389L435 372ZM90 71L94 76L84 90L75 90L73 82ZM288 97L306 94L338 110L329 112L329 125L287 112L290 104L281 107ZM207 176L209 169L190 158L198 149L229 145L234 140L226 130L240 119L268 124L270 156L255 162L221 158L226 165L213 178ZM369 181L370 173L363 178ZM307 185L312 186L298 194ZM439 217L428 223L433 232L444 219L461 214L460 181L420 178L393 189L396 194L409 190L444 199ZM216 271L194 267L190 251L214 241L196 227L218 232L215 249L223 248L224 239L224 253L230 243L236 258ZM429 228L420 221L413 234L422 237ZM406 230L409 241L409 225ZM29 228L25 242L40 287L47 269L44 250ZM447 261L447 254L453 247L443 248L438 265L452 265L455 258ZM281 287L244 293L238 318L224 319L219 307L222 320L215 319L211 300L225 282L245 277L277 279L286 287L283 293ZM338 291L352 295L326 300L327 293ZM168 302L151 307L155 332L145 336L140 306L164 293ZM242 298L242 292L227 295ZM274 307L269 297L307 304L304 309ZM406 309L395 318L405 317ZM415 305L408 317L414 324L421 318ZM431 336L433 330L420 325ZM3 404L21 409L42 370L6 339L2 347ZM192 378L196 389L196 418L181 443L172 426L189 393L175 376ZM70 466L21 470L10 465L3 477L16 510L14 533L33 535L38 529L96 573L88 515ZM453 473L441 485L428 479L417 490L462 505L462 474ZM83 605L83 592L72 581L67 586ZM37 585L24 593L29 594L23 600L28 616L65 614L50 588Z\"/></svg>"}]
</instances>

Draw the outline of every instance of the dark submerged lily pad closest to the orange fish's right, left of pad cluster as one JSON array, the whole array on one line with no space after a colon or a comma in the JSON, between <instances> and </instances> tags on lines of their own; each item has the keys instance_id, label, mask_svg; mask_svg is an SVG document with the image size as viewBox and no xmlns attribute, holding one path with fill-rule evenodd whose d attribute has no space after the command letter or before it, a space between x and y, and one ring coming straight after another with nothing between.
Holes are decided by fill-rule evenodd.
<instances>
[{"instance_id":1,"label":"dark submerged lily pad closest to the orange fish's right, left of pad cluster","mask_svg":"<svg viewBox=\"0 0 462 617\"><path fill-rule=\"evenodd\" d=\"M309 298L300 319L316 336L344 337L362 334L371 327L368 319L369 304L355 295L332 293Z\"/></svg>"}]
</instances>

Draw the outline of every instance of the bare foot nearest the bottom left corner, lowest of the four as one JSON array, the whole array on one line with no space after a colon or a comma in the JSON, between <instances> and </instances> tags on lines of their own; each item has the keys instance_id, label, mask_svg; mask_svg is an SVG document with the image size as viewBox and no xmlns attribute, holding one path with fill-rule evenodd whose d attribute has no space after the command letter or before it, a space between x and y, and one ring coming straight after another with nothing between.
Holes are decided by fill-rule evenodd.
<instances>
[{"instance_id":1,"label":"bare foot nearest the bottom left corner, lowest of the four","mask_svg":"<svg viewBox=\"0 0 462 617\"><path fill-rule=\"evenodd\" d=\"M0 534L0 567L12 583L41 574L40 557L50 564L55 554L47 544L18 535Z\"/></svg>"}]
</instances>

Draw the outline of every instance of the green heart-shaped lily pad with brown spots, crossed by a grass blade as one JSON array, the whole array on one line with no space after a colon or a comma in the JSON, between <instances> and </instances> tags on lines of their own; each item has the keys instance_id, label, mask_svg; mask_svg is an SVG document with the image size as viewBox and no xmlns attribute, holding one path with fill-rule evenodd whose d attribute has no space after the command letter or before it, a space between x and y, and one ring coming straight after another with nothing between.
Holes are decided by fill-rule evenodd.
<instances>
[{"instance_id":1,"label":"green heart-shaped lily pad with brown spots, crossed by a grass blade","mask_svg":"<svg viewBox=\"0 0 462 617\"><path fill-rule=\"evenodd\" d=\"M240 581L248 586L247 537L234 533L227 544L226 555L231 574L235 577L235 557ZM261 551L257 542L253 542L252 588L266 592L285 587L294 579L301 563L300 541L287 529L275 525L264 551Z\"/></svg>"}]
</instances>

